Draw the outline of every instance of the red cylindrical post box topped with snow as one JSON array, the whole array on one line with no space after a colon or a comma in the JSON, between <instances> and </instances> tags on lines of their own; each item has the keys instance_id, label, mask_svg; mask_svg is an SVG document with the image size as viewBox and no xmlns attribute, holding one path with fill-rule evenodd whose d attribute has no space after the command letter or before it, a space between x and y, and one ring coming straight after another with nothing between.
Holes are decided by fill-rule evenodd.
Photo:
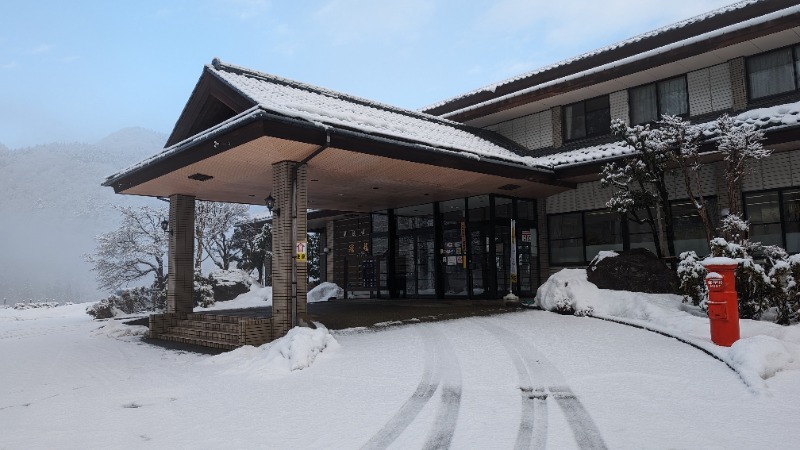
<instances>
[{"instance_id":1,"label":"red cylindrical post box topped with snow","mask_svg":"<svg viewBox=\"0 0 800 450\"><path fill-rule=\"evenodd\" d=\"M736 260L711 258L703 262L708 271L708 319L711 324L711 340L730 347L739 340L739 298L736 295Z\"/></svg>"}]
</instances>

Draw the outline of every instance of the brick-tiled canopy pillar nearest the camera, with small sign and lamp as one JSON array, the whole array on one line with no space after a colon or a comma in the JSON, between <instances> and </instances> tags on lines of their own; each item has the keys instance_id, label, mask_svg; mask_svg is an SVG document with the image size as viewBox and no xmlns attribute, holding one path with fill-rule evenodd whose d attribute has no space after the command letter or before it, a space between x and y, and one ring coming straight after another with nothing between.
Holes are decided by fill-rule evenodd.
<instances>
[{"instance_id":1,"label":"brick-tiled canopy pillar nearest the camera, with small sign and lamp","mask_svg":"<svg viewBox=\"0 0 800 450\"><path fill-rule=\"evenodd\" d=\"M280 337L307 313L308 266L296 261L296 244L308 240L306 166L272 165L272 326Z\"/></svg>"}]
</instances>

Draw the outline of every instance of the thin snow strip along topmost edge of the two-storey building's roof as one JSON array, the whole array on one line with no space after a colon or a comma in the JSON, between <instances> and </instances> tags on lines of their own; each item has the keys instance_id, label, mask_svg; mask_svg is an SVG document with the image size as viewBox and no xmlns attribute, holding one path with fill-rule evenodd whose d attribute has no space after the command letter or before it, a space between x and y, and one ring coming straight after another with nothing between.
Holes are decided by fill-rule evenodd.
<instances>
[{"instance_id":1,"label":"thin snow strip along topmost edge of the two-storey building's roof","mask_svg":"<svg viewBox=\"0 0 800 450\"><path fill-rule=\"evenodd\" d=\"M734 3L732 5L724 6L722 8L718 8L718 9L715 9L713 11L709 11L707 13L703 13L703 14L691 17L689 19L685 19L685 20L682 20L680 22L676 22L676 23L674 23L672 25L666 25L664 27L657 28L657 29L652 30L652 31L648 31L646 33L642 33L642 34L639 34L637 36L634 36L634 37L631 37L631 38L628 38L628 39L625 39L625 40L622 40L622 41L619 41L619 42L615 42L615 43L607 45L605 47L601 47L599 49L592 50L590 52L586 52L586 53L583 53L581 55L574 56L574 57L571 57L571 58L556 62L554 64L550 64L548 66L544 66L544 67L541 67L541 68L538 68L538 69L534 69L532 71L525 72L525 73L522 73L520 75L515 75L513 77L507 78L507 79L499 81L499 82L488 84L486 86L480 87L478 89L474 89L474 90L466 92L464 94L461 94L461 95L458 95L458 96L455 96L455 97L452 97L452 98L449 98L449 99L445 99L445 100L433 103L433 104L428 105L428 106L425 106L423 108L420 108L419 111L428 111L428 110L431 110L433 108L438 108L440 106L444 106L444 105L446 105L448 103L451 103L451 102L454 102L456 100L461 100L463 98L467 98L467 97L470 97L472 95L475 95L475 94L478 94L478 93L481 93L481 92L487 92L487 91L488 92L495 92L498 87L504 86L506 84L513 83L513 82L516 82L516 81L519 81L519 80L522 80L522 79L525 79L525 78L528 78L528 77L532 77L534 75L538 75L538 74L541 74L541 73L545 73L545 72L554 70L554 69L556 69L558 67L562 67L562 66L566 66L566 65L569 65L569 64L573 64L573 63L575 63L577 61L580 61L580 60L583 60L583 59L587 59L587 58L596 56L596 55L601 54L601 53L606 53L606 52L609 52L609 51L612 51L612 50L616 50L616 49L619 49L619 48L622 48L622 47L625 47L625 46L640 42L640 41L642 41L644 39L649 39L649 38L658 36L660 34L664 34L664 33L668 32L668 31L677 30L677 29L686 27L687 25L690 25L690 24L694 24L694 23L697 23L697 22L702 22L702 21L708 20L708 19L710 19L712 17L718 16L720 14L729 13L729 12L737 10L737 9L742 9L744 7L747 7L747 6L753 5L755 3L758 3L759 1L762 1L762 0L745 0L745 1L738 2L738 3Z\"/></svg>"}]
</instances>

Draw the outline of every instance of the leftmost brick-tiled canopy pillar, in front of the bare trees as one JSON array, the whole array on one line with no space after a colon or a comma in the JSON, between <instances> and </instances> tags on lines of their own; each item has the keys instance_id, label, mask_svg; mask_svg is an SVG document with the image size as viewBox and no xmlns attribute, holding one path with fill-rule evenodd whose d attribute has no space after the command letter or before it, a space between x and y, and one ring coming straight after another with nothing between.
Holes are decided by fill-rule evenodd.
<instances>
[{"instance_id":1,"label":"leftmost brick-tiled canopy pillar, in front of the bare trees","mask_svg":"<svg viewBox=\"0 0 800 450\"><path fill-rule=\"evenodd\" d=\"M194 309L194 197L169 197L169 280L167 312L190 313Z\"/></svg>"}]
</instances>

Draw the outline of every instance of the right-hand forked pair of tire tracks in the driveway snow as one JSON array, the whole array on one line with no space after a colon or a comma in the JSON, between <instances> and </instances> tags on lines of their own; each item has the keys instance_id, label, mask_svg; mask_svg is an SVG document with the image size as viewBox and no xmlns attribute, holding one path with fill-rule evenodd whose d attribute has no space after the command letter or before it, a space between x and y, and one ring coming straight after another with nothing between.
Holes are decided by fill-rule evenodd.
<instances>
[{"instance_id":1,"label":"right-hand forked pair of tire tracks in the driveway snow","mask_svg":"<svg viewBox=\"0 0 800 450\"><path fill-rule=\"evenodd\" d=\"M522 414L515 449L546 447L548 397L553 398L564 412L580 448L606 448L594 420L566 386L564 376L553 363L516 333L486 321L479 323L500 341L517 370Z\"/></svg>"}]
</instances>

